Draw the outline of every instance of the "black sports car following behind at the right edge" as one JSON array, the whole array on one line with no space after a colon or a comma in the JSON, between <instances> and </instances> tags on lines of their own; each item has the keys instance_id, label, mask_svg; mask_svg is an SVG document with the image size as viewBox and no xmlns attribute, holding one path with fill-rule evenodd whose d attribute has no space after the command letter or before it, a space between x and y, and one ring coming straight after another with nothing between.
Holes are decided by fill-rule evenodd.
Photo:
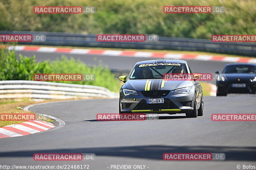
<instances>
[{"instance_id":1,"label":"black sports car following behind at the right edge","mask_svg":"<svg viewBox=\"0 0 256 170\"><path fill-rule=\"evenodd\" d=\"M228 93L256 92L256 64L232 63L227 64L220 73L216 71L217 96Z\"/></svg>"}]
</instances>

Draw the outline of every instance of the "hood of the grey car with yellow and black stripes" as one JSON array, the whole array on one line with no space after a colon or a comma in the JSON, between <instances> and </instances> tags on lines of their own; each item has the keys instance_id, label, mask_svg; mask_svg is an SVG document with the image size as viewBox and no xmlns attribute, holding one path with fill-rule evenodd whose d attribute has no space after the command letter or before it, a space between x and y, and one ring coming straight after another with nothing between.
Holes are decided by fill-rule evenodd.
<instances>
[{"instance_id":1,"label":"hood of the grey car with yellow and black stripes","mask_svg":"<svg viewBox=\"0 0 256 170\"><path fill-rule=\"evenodd\" d=\"M175 90L179 88L186 87L190 81L193 80L168 80L163 79L142 79L142 80L128 80L123 89L135 90L135 91L145 91L146 84L148 83L149 90ZM146 88L147 89L147 88Z\"/></svg>"}]
</instances>

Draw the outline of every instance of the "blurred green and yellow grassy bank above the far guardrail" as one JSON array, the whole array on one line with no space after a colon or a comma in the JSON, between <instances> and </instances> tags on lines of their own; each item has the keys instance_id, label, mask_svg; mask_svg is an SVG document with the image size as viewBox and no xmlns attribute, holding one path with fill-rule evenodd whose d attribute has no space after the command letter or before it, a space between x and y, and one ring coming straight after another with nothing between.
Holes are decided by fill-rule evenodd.
<instances>
[{"instance_id":1,"label":"blurred green and yellow grassy bank above the far guardrail","mask_svg":"<svg viewBox=\"0 0 256 170\"><path fill-rule=\"evenodd\" d=\"M165 14L162 8L168 5L225 6L225 13ZM34 14L34 6L95 6L96 13ZM212 34L256 32L254 0L2 0L0 16L0 30L158 34L202 39L210 39Z\"/></svg>"}]
</instances>

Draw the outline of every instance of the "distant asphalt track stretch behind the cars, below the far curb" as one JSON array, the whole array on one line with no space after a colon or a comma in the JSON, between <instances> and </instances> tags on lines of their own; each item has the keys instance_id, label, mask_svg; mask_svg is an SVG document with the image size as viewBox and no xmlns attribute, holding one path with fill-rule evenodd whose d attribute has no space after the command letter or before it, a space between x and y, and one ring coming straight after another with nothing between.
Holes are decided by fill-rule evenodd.
<instances>
[{"instance_id":1,"label":"distant asphalt track stretch behind the cars, below the far curb","mask_svg":"<svg viewBox=\"0 0 256 170\"><path fill-rule=\"evenodd\" d=\"M108 66L112 70L123 70L123 72L129 72L134 64L139 61L144 60L154 60L157 58L146 58L146 57L129 57L129 56L107 56L107 55L78 55L78 54L65 54L65 53L42 53L42 52L27 52L27 51L17 51L17 55L21 54L23 56L33 56L36 55L37 61L43 60L55 60L56 58L61 58L62 55L66 55L68 58L74 57L76 59L82 60L88 65L98 65L99 61L102 61L104 66ZM158 58L162 59L162 58ZM194 73L211 73L213 78L215 78L215 71L222 71L224 66L228 62L219 61L199 61L199 60L186 60ZM215 79L208 81L209 83L215 84Z\"/></svg>"}]
</instances>

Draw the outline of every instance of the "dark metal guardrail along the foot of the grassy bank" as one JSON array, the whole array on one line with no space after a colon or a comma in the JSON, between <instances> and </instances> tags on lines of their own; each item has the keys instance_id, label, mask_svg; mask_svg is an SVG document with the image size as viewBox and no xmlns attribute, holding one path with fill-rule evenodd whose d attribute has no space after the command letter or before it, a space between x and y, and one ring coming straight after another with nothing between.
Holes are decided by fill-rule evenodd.
<instances>
[{"instance_id":1,"label":"dark metal guardrail along the foot of the grassy bank","mask_svg":"<svg viewBox=\"0 0 256 170\"><path fill-rule=\"evenodd\" d=\"M134 48L134 49L169 49L182 51L206 51L222 54L256 55L254 42L212 42L205 39L159 37L155 42L98 42L96 34L54 33L29 31L0 31L0 34L45 34L44 42L20 42L19 44L101 47L101 48Z\"/></svg>"}]
</instances>

